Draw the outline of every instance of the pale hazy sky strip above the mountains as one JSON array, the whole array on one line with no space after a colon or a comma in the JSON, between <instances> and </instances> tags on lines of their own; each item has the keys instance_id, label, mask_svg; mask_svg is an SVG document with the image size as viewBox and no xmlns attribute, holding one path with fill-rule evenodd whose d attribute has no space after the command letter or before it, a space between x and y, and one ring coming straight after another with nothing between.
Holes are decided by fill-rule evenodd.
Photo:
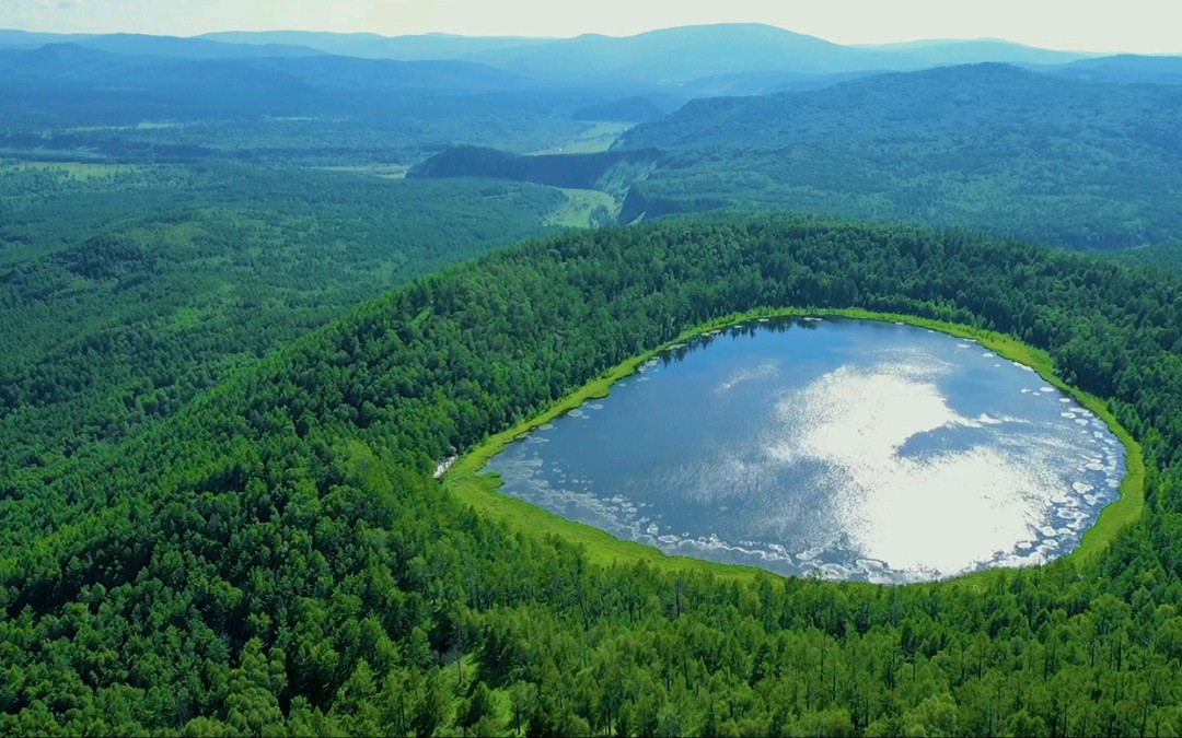
<instances>
[{"instance_id":1,"label":"pale hazy sky strip above the mountains","mask_svg":"<svg viewBox=\"0 0 1182 738\"><path fill-rule=\"evenodd\" d=\"M1177 8L1177 0L0 0L0 27L571 37L765 22L840 44L991 37L1051 48L1182 53Z\"/></svg>"}]
</instances>

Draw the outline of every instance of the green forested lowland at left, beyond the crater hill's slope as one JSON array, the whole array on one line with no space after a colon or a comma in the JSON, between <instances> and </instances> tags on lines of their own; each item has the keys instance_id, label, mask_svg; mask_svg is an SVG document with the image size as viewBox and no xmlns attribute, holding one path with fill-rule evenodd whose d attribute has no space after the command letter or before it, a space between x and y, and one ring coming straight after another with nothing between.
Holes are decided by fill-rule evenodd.
<instances>
[{"instance_id":1,"label":"green forested lowland at left, beyond the crater hill's slope","mask_svg":"<svg viewBox=\"0 0 1182 738\"><path fill-rule=\"evenodd\" d=\"M234 367L566 203L505 182L0 164L0 481L103 453Z\"/></svg>"}]
</instances>

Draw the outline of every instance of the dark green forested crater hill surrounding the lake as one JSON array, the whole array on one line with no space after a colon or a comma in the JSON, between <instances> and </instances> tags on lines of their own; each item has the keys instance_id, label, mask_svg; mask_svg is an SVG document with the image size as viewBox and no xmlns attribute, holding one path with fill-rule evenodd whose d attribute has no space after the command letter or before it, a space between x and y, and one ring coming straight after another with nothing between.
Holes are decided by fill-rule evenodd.
<instances>
[{"instance_id":1,"label":"dark green forested crater hill surrounding the lake","mask_svg":"<svg viewBox=\"0 0 1182 738\"><path fill-rule=\"evenodd\" d=\"M0 486L0 732L1182 731L1182 281L760 214L421 277L102 456ZM1144 444L1104 556L883 588L613 564L430 478L681 331L858 306L1009 333Z\"/></svg>"}]
</instances>

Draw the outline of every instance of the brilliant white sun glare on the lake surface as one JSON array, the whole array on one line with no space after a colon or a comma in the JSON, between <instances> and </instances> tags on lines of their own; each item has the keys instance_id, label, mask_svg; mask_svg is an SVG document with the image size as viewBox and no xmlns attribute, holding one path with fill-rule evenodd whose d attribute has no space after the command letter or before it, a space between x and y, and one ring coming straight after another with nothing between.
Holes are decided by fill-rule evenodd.
<instances>
[{"instance_id":1,"label":"brilliant white sun glare on the lake surface","mask_svg":"<svg viewBox=\"0 0 1182 738\"><path fill-rule=\"evenodd\" d=\"M908 439L980 420L954 412L927 378L948 365L898 364L870 373L842 367L780 400L780 463L829 465L830 494L851 546L908 572L953 574L1021 540L1040 520L1054 486L1030 478L995 449L973 448L918 459ZM965 518L972 525L934 521Z\"/></svg>"}]
</instances>

